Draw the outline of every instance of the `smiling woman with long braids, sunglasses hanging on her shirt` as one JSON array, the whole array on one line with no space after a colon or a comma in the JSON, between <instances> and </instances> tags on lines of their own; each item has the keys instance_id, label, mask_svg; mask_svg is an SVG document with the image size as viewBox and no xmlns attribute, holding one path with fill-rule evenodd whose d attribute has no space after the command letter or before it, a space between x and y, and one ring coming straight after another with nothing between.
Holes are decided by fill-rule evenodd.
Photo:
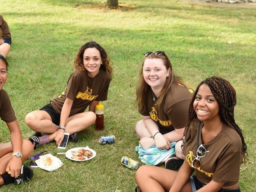
<instances>
[{"instance_id":1,"label":"smiling woman with long braids, sunglasses hanging on her shirt","mask_svg":"<svg viewBox=\"0 0 256 192\"><path fill-rule=\"evenodd\" d=\"M235 105L236 91L228 81L202 81L189 106L180 170L142 166L136 172L136 191L240 192L240 164L247 147L234 120Z\"/></svg>"}]
</instances>

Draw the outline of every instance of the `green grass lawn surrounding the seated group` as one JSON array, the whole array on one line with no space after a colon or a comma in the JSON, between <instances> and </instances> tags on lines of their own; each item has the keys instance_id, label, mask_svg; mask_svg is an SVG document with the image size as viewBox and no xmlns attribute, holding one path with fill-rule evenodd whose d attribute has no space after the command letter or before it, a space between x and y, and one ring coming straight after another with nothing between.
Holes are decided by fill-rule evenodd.
<instances>
[{"instance_id":1,"label":"green grass lawn surrounding the seated group","mask_svg":"<svg viewBox=\"0 0 256 192\"><path fill-rule=\"evenodd\" d=\"M58 156L64 166L54 172L34 169L32 182L3 186L12 191L130 192L135 171L121 165L122 156L138 160L135 124L140 120L135 98L143 53L164 50L176 74L193 89L209 76L229 80L237 92L235 117L243 129L249 161L242 164L240 188L253 192L256 180L256 34L255 8L200 5L177 0L120 0L122 9L103 8L106 0L1 0L1 14L12 32L10 64L4 89L11 100L23 138L33 132L24 118L58 96L66 87L78 48L89 40L101 44L114 63L114 78L105 104L105 129L83 131L67 150L90 146L97 156L73 162L54 143L39 147ZM126 6L126 7L125 7ZM0 142L10 139L0 122ZM98 144L104 134L112 145ZM28 162L25 162L28 164ZM142 165L140 163L140 165Z\"/></svg>"}]
</instances>

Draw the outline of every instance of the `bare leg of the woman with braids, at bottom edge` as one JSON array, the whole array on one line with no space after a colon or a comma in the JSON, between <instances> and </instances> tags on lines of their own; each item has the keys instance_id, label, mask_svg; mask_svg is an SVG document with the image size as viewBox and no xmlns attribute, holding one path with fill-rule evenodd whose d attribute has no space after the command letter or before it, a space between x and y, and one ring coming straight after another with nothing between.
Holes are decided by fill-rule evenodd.
<instances>
[{"instance_id":1,"label":"bare leg of the woman with braids, at bottom edge","mask_svg":"<svg viewBox=\"0 0 256 192\"><path fill-rule=\"evenodd\" d=\"M137 170L135 178L142 192L165 192L172 187L177 173L156 166L144 165ZM192 192L189 180L180 192Z\"/></svg>"}]
</instances>

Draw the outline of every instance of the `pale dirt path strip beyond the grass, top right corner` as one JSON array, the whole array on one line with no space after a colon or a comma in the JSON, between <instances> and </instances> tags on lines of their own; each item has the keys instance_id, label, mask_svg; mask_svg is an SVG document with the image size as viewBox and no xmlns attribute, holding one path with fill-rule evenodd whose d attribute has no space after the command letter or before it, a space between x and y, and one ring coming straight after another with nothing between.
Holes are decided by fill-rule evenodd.
<instances>
[{"instance_id":1,"label":"pale dirt path strip beyond the grass, top right corner","mask_svg":"<svg viewBox=\"0 0 256 192\"><path fill-rule=\"evenodd\" d=\"M181 2L190 2L201 5L210 5L210 6L225 6L225 7L241 7L241 8L252 8L256 9L256 3L220 3L220 2L205 2L203 0L180 0Z\"/></svg>"}]
</instances>

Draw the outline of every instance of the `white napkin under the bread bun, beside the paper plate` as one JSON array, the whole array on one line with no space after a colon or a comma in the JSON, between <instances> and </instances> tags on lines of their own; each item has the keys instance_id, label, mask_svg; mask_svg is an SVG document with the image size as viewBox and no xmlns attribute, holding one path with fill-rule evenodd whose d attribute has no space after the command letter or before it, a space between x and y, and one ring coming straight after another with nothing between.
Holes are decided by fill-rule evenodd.
<instances>
[{"instance_id":1,"label":"white napkin under the bread bun, beside the paper plate","mask_svg":"<svg viewBox=\"0 0 256 192\"><path fill-rule=\"evenodd\" d=\"M51 165L45 165L44 164L44 159L46 157L50 157L52 159L52 164ZM60 168L63 163L61 162L61 160L55 156L53 156L52 154L46 154L46 155L42 155L39 157L38 160L36 160L36 164L38 165L38 167L40 167L41 169L47 170L47 171L53 171L56 170L58 168Z\"/></svg>"}]
</instances>

